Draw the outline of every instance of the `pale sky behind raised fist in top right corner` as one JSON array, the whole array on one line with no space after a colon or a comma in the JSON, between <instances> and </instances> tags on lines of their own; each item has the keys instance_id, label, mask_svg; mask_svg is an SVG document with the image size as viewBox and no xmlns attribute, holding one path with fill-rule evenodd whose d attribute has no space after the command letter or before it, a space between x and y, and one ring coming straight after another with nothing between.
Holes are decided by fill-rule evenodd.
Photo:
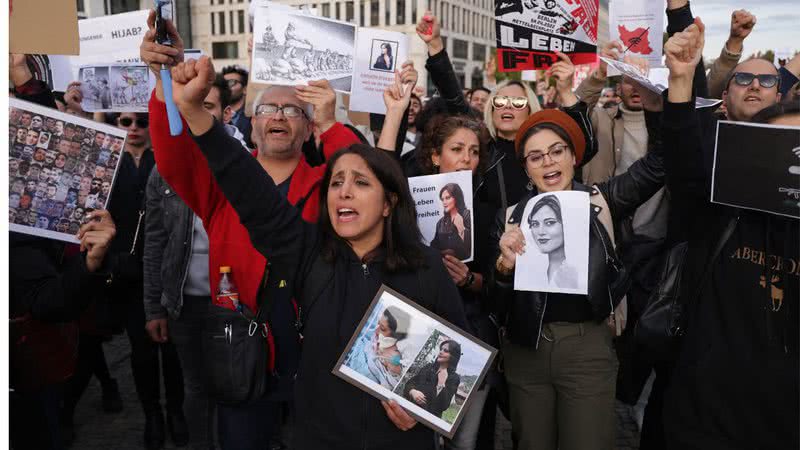
<instances>
[{"instance_id":1,"label":"pale sky behind raised fist in top right corner","mask_svg":"<svg viewBox=\"0 0 800 450\"><path fill-rule=\"evenodd\" d=\"M756 26L744 42L744 56L759 50L800 50L800 0L695 0L691 5L695 17L706 25L703 56L707 59L719 56L736 9L756 16Z\"/></svg>"}]
</instances>

